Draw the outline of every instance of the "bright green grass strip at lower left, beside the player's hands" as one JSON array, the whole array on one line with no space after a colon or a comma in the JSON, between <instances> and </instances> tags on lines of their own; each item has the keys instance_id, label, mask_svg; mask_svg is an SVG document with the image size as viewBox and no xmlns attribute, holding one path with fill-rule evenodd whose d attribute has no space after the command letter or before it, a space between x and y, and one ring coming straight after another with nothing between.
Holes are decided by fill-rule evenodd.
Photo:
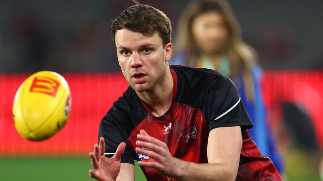
<instances>
[{"instance_id":1,"label":"bright green grass strip at lower left, beside the player's hands","mask_svg":"<svg viewBox=\"0 0 323 181\"><path fill-rule=\"evenodd\" d=\"M0 158L0 181L94 181L89 157ZM147 181L136 164L136 181Z\"/></svg>"}]
</instances>

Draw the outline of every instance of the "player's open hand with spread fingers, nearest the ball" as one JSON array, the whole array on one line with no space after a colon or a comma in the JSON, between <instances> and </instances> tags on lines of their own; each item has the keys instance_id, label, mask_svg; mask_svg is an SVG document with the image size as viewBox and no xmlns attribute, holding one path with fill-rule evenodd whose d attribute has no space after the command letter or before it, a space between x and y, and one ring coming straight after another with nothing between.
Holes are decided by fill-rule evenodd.
<instances>
[{"instance_id":1,"label":"player's open hand with spread fingers, nearest the ball","mask_svg":"<svg viewBox=\"0 0 323 181\"><path fill-rule=\"evenodd\" d=\"M89 153L91 164L94 170L89 170L91 178L98 181L116 181L121 167L121 156L125 151L126 144L120 143L114 156L107 158L104 156L105 143L104 138L100 137L99 145L94 144L94 149Z\"/></svg>"}]
</instances>

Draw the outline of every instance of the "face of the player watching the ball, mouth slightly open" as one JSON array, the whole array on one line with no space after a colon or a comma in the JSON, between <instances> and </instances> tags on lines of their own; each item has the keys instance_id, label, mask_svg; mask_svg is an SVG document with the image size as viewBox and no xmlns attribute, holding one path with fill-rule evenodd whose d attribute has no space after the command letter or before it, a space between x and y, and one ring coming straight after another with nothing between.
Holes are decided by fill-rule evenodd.
<instances>
[{"instance_id":1,"label":"face of the player watching the ball, mouth slightly open","mask_svg":"<svg viewBox=\"0 0 323 181\"><path fill-rule=\"evenodd\" d=\"M122 73L134 90L152 90L163 81L171 43L163 47L158 33L149 37L124 28L117 30L115 44Z\"/></svg>"}]
</instances>

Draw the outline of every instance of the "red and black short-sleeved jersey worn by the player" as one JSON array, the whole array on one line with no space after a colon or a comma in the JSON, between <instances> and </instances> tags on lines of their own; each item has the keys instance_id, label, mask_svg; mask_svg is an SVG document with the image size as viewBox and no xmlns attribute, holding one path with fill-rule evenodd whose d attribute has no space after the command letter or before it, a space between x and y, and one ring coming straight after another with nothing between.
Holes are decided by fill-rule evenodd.
<instances>
[{"instance_id":1,"label":"red and black short-sleeved jersey worn by the player","mask_svg":"<svg viewBox=\"0 0 323 181\"><path fill-rule=\"evenodd\" d=\"M105 139L106 156L112 156L119 143L126 142L121 162L134 164L134 159L153 162L135 151L137 135L145 130L165 142L172 156L208 163L209 132L219 127L240 126L243 140L237 181L281 180L271 160L260 154L249 136L247 129L252 123L229 78L210 69L170 66L170 71L174 81L172 104L161 117L155 117L131 87L114 102L99 126L98 136ZM142 170L148 181L171 180L153 168Z\"/></svg>"}]
</instances>

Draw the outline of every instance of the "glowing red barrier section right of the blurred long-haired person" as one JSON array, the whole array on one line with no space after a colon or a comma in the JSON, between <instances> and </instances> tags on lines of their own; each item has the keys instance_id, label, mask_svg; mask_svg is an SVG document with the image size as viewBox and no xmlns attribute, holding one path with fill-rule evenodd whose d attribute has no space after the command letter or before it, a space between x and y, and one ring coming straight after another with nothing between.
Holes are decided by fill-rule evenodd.
<instances>
[{"instance_id":1,"label":"glowing red barrier section right of the blurred long-haired person","mask_svg":"<svg viewBox=\"0 0 323 181\"><path fill-rule=\"evenodd\" d=\"M282 102L301 105L314 126L317 143L323 148L323 71L267 71L263 79L263 96L273 129L282 124ZM299 133L304 134L304 133Z\"/></svg>"}]
</instances>

